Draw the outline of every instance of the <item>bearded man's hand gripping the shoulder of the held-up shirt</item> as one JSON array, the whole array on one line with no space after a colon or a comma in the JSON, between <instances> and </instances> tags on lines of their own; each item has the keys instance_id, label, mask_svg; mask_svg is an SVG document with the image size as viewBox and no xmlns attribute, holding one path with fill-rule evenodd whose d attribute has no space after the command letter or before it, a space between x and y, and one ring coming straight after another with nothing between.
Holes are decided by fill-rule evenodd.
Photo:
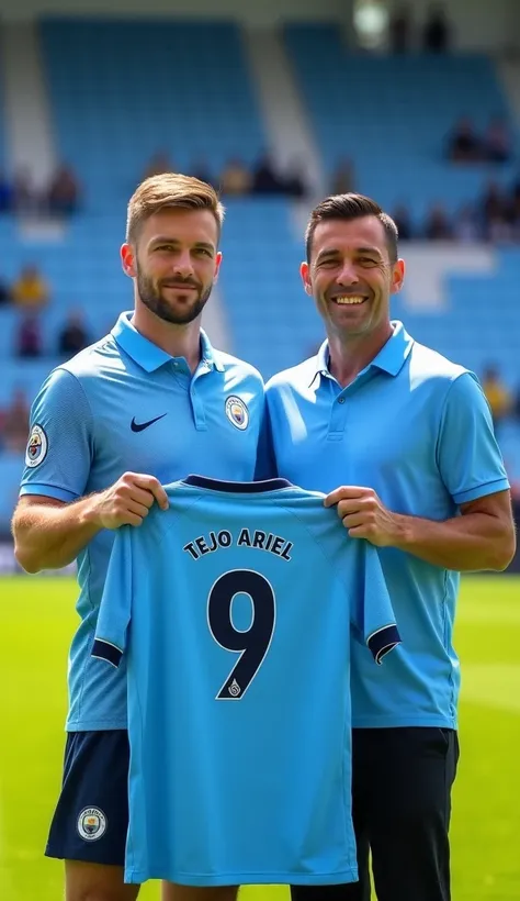
<instances>
[{"instance_id":1,"label":"bearded man's hand gripping the shoulder of the held-up shirt","mask_svg":"<svg viewBox=\"0 0 520 901\"><path fill-rule=\"evenodd\" d=\"M140 525L154 501L168 509L168 496L154 476L125 472L114 485L92 499L93 519L101 529Z\"/></svg>"}]
</instances>

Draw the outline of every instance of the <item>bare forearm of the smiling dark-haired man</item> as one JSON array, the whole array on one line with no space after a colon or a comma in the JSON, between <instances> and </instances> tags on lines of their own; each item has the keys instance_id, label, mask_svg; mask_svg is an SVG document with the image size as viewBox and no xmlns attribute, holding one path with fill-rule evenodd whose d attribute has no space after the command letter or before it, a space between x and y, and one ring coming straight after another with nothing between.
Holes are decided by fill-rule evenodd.
<instances>
[{"instance_id":1,"label":"bare forearm of the smiling dark-haired man","mask_svg":"<svg viewBox=\"0 0 520 901\"><path fill-rule=\"evenodd\" d=\"M515 554L515 534L486 513L443 522L396 515L395 547L443 569L461 572L506 569Z\"/></svg>"}]
</instances>

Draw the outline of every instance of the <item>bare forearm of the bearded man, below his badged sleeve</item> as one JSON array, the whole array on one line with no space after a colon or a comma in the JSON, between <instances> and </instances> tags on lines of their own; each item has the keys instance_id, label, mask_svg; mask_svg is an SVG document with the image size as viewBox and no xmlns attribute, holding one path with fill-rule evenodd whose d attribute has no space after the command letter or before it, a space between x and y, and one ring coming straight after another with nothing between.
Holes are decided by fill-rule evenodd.
<instances>
[{"instance_id":1,"label":"bare forearm of the bearded man, below his badged sleeve","mask_svg":"<svg viewBox=\"0 0 520 901\"><path fill-rule=\"evenodd\" d=\"M14 554L27 572L60 569L72 563L100 531L97 496L75 503L29 505L13 518Z\"/></svg>"}]
</instances>

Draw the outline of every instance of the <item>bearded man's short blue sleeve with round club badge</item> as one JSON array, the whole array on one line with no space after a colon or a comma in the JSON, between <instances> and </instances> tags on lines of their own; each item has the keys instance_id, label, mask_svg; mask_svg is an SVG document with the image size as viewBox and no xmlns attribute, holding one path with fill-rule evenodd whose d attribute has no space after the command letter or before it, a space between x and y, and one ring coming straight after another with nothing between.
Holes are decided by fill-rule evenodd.
<instances>
[{"instance_id":1,"label":"bearded man's short blue sleeve with round club badge","mask_svg":"<svg viewBox=\"0 0 520 901\"><path fill-rule=\"evenodd\" d=\"M55 369L31 410L20 493L66 502L82 497L92 461L92 412L81 383L67 369Z\"/></svg>"}]
</instances>

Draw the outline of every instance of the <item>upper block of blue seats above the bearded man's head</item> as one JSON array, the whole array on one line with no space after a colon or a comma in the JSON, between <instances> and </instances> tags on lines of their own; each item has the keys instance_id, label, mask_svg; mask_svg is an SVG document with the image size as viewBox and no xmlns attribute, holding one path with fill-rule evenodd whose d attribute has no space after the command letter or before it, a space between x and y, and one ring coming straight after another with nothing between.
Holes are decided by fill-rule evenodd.
<instances>
[{"instance_id":1,"label":"upper block of blue seats above the bearded man's head","mask_svg":"<svg viewBox=\"0 0 520 901\"><path fill-rule=\"evenodd\" d=\"M217 175L264 149L234 24L47 19L41 33L61 153L92 209L126 200L157 151Z\"/></svg>"}]
</instances>

